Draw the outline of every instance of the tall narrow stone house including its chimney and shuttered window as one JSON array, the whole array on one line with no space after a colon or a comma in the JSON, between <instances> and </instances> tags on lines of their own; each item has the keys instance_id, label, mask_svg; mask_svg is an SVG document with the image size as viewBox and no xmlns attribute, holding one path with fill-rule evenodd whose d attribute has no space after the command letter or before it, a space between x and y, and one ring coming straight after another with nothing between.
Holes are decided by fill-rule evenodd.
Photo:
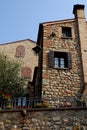
<instances>
[{"instance_id":1,"label":"tall narrow stone house including its chimney and shuttered window","mask_svg":"<svg viewBox=\"0 0 87 130\"><path fill-rule=\"evenodd\" d=\"M84 5L74 5L73 19L39 26L39 69L36 95L65 97L86 94L87 22ZM38 84L39 83L39 84Z\"/></svg>"}]
</instances>

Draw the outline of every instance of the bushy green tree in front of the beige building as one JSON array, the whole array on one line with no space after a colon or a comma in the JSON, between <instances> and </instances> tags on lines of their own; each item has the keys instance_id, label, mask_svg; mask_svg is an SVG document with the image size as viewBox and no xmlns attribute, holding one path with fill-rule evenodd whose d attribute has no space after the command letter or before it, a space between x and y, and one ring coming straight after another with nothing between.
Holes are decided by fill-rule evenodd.
<instances>
[{"instance_id":1,"label":"bushy green tree in front of the beige building","mask_svg":"<svg viewBox=\"0 0 87 130\"><path fill-rule=\"evenodd\" d=\"M20 76L21 64L11 60L5 54L0 54L0 92L11 97L22 96L25 79Z\"/></svg>"}]
</instances>

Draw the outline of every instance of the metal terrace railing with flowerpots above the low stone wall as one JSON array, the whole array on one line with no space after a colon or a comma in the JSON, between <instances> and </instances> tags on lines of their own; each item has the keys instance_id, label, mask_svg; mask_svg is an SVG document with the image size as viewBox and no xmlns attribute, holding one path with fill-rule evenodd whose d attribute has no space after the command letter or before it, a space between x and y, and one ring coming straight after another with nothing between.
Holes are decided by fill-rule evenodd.
<instances>
[{"instance_id":1,"label":"metal terrace railing with flowerpots above the low stone wall","mask_svg":"<svg viewBox=\"0 0 87 130\"><path fill-rule=\"evenodd\" d=\"M39 98L39 97L19 97L15 99L0 100L0 110L20 110L32 108L86 108L87 97L52 97L52 98Z\"/></svg>"}]
</instances>

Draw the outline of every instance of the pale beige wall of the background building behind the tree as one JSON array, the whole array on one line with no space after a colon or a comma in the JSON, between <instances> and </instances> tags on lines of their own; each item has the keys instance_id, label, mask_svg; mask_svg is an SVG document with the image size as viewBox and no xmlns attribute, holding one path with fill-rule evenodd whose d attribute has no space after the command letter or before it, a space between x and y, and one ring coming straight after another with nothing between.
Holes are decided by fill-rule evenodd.
<instances>
[{"instance_id":1,"label":"pale beige wall of the background building behind the tree","mask_svg":"<svg viewBox=\"0 0 87 130\"><path fill-rule=\"evenodd\" d=\"M16 55L17 47L20 46L24 47L25 49L23 56ZM34 48L35 46L36 43L31 40L21 40L21 41L6 43L6 44L0 44L0 53L4 53L11 59L21 61L23 68L29 67L31 69L31 78L29 80L32 81L33 74L34 74L34 67L38 65L38 56L35 55L34 51L32 50L32 48ZM21 50L20 53L22 52L23 50Z\"/></svg>"}]
</instances>

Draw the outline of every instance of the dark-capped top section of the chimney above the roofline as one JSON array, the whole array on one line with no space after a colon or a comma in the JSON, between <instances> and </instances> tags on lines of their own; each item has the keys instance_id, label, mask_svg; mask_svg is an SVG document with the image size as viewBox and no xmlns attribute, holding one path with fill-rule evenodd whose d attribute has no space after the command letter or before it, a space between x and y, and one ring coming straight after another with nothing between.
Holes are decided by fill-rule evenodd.
<instances>
[{"instance_id":1,"label":"dark-capped top section of the chimney above the roofline","mask_svg":"<svg viewBox=\"0 0 87 130\"><path fill-rule=\"evenodd\" d=\"M76 4L73 7L73 14L75 15L75 18L85 18L84 15L84 5Z\"/></svg>"}]
</instances>

